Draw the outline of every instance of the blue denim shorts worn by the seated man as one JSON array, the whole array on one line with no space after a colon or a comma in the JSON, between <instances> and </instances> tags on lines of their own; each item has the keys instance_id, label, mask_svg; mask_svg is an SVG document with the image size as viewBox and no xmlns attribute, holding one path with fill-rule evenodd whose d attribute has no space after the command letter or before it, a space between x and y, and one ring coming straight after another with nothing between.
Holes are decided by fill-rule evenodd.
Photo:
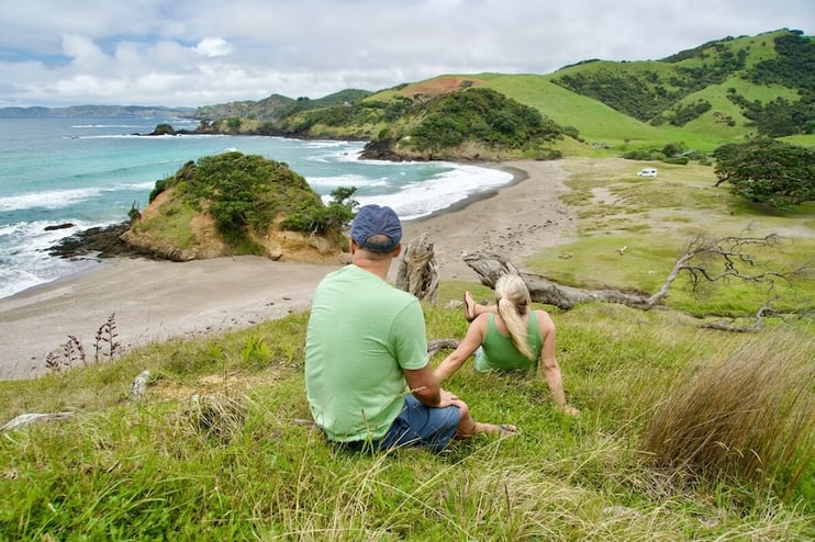
<instances>
[{"instance_id":1,"label":"blue denim shorts worn by the seated man","mask_svg":"<svg viewBox=\"0 0 815 542\"><path fill-rule=\"evenodd\" d=\"M404 406L388 432L379 440L347 442L346 447L357 450L387 450L401 447L427 447L439 453L456 434L461 421L461 413L455 406L434 408L424 406L409 394Z\"/></svg>"}]
</instances>

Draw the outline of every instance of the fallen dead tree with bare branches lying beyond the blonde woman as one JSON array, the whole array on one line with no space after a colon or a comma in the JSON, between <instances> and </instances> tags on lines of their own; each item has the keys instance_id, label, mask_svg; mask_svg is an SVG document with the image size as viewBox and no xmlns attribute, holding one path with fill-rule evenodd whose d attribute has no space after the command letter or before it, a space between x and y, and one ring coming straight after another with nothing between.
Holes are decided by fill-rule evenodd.
<instances>
[{"instance_id":1,"label":"fallen dead tree with bare branches lying beyond the blonde woman","mask_svg":"<svg viewBox=\"0 0 815 542\"><path fill-rule=\"evenodd\" d=\"M750 282L769 283L774 279L791 281L812 273L812 263L790 271L763 270L746 272L757 268L756 258L750 248L772 247L780 241L775 234L766 237L721 237L710 239L699 235L691 239L684 253L677 260L668 273L662 286L654 294L632 294L618 290L587 290L556 284L550 280L531 273L523 273L504 257L488 252L475 252L464 256L465 262L481 276L481 283L489 287L505 273L520 275L529 289L532 300L537 303L569 309L581 303L601 301L618 303L634 308L648 310L662 302L673 282L681 273L689 275L691 289L696 291L703 282L716 282L728 278ZM767 313L767 307L760 315ZM760 318L757 320L760 323Z\"/></svg>"}]
</instances>

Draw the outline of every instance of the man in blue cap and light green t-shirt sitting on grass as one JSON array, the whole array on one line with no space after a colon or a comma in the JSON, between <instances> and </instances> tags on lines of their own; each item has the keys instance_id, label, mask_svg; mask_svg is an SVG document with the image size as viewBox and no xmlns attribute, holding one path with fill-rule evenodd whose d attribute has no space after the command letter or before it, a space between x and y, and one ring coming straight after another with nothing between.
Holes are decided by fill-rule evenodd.
<instances>
[{"instance_id":1,"label":"man in blue cap and light green t-shirt sitting on grass","mask_svg":"<svg viewBox=\"0 0 815 542\"><path fill-rule=\"evenodd\" d=\"M314 292L305 338L314 421L328 440L370 450L440 452L454 436L514 432L473 420L467 404L440 388L418 300L386 282L401 239L393 210L361 207L350 229L351 264Z\"/></svg>"}]
</instances>

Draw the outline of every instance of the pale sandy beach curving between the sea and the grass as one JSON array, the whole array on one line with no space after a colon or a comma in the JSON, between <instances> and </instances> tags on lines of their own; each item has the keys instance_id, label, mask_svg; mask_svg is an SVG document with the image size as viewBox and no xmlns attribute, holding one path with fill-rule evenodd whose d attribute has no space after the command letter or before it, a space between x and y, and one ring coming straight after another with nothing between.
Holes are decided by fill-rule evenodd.
<instances>
[{"instance_id":1,"label":"pale sandy beach curving between the sea and the grass","mask_svg":"<svg viewBox=\"0 0 815 542\"><path fill-rule=\"evenodd\" d=\"M405 245L429 234L442 280L478 280L461 259L464 252L499 252L521 264L572 235L572 218L558 197L567 190L561 162L524 160L492 167L511 171L514 181L403 224ZM46 355L69 335L91 349L97 330L111 315L125 349L279 318L308 308L320 280L337 268L260 257L185 263L105 260L0 300L0 380L44 374ZM393 276L397 268L394 263Z\"/></svg>"}]
</instances>

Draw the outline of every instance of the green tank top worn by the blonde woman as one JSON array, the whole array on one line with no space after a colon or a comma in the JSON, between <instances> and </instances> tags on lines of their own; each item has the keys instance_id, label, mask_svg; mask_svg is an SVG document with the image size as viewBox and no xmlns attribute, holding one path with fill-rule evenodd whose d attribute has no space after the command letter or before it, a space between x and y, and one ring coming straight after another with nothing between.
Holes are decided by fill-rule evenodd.
<instances>
[{"instance_id":1,"label":"green tank top worn by the blonde woman","mask_svg":"<svg viewBox=\"0 0 815 542\"><path fill-rule=\"evenodd\" d=\"M504 335L495 326L495 315L490 314L487 320L487 334L481 342L481 351L476 355L477 371L514 371L532 369L537 365L544 339L540 337L540 327L535 310L529 310L529 321L526 326L526 338L535 359L526 358L512 343L509 335Z\"/></svg>"}]
</instances>

